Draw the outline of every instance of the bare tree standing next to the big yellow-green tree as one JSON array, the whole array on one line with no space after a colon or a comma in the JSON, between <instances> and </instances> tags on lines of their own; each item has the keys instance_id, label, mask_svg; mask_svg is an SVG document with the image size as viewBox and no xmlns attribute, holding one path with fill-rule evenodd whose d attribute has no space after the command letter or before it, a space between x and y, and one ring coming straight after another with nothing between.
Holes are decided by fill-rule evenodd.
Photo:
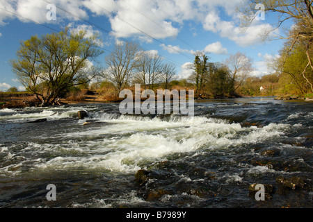
<instances>
[{"instance_id":1,"label":"bare tree standing next to the big yellow-green tree","mask_svg":"<svg viewBox=\"0 0 313 222\"><path fill-rule=\"evenodd\" d=\"M138 51L138 44L126 42L116 44L109 56L106 56L107 69L104 76L115 84L117 94L131 81L138 66Z\"/></svg>"}]
</instances>

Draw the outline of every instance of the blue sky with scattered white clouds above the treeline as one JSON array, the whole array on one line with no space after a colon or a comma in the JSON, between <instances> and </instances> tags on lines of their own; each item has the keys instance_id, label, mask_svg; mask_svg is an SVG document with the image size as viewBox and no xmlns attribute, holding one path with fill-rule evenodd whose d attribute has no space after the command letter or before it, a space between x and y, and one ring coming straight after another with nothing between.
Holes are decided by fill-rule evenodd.
<instances>
[{"instance_id":1,"label":"blue sky with scattered white clouds above the treeline","mask_svg":"<svg viewBox=\"0 0 313 222\"><path fill-rule=\"evenodd\" d=\"M268 74L266 60L278 55L282 40L263 42L265 28L273 28L275 15L265 15L241 32L240 15L235 11L241 0L0 0L0 90L23 89L10 67L21 40L70 26L99 33L102 47L111 50L121 40L138 42L143 49L157 51L177 65L177 75L191 74L186 68L195 51L204 51L212 62L223 62L240 51L253 60L252 76ZM53 3L56 10L48 6ZM257 11L257 10L256 10ZM47 14L56 12L56 20ZM48 16L49 18L49 16ZM291 27L291 24L285 24ZM281 27L272 33L282 35ZM103 67L105 51L99 57Z\"/></svg>"}]
</instances>

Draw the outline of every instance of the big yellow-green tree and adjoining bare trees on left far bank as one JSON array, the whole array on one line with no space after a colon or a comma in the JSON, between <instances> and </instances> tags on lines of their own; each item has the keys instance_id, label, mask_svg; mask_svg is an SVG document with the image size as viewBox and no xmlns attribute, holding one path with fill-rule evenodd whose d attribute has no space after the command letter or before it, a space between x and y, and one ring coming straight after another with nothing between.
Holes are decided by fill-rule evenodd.
<instances>
[{"instance_id":1,"label":"big yellow-green tree and adjoining bare trees on left far bank","mask_svg":"<svg viewBox=\"0 0 313 222\"><path fill-rule=\"evenodd\" d=\"M17 59L11 60L13 71L27 91L35 94L41 105L54 105L78 85L88 85L93 78L105 78L115 85L115 95L131 83L154 89L155 84L168 87L175 79L175 65L164 62L152 51L143 51L137 44L116 44L106 56L106 69L96 67L103 53L97 36L86 32L33 36L20 42Z\"/></svg>"}]
</instances>

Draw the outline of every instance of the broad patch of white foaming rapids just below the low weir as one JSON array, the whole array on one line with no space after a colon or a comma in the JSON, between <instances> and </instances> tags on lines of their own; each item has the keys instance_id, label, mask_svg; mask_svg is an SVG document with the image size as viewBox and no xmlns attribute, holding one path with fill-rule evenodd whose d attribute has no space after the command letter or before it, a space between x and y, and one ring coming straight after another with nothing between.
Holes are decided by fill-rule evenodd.
<instances>
[{"instance_id":1,"label":"broad patch of white foaming rapids just below the low weir","mask_svg":"<svg viewBox=\"0 0 313 222\"><path fill-rule=\"evenodd\" d=\"M290 127L272 123L264 128L243 128L239 123L207 117L171 117L169 121L162 121L157 117L104 114L99 120L109 124L81 127L79 132L52 136L63 144L29 144L27 149L32 151L82 155L54 157L47 162L40 161L35 168L134 173L144 164L166 160L167 155L262 142L284 135L284 130ZM107 138L108 135L111 137ZM64 140L66 138L70 140Z\"/></svg>"}]
</instances>

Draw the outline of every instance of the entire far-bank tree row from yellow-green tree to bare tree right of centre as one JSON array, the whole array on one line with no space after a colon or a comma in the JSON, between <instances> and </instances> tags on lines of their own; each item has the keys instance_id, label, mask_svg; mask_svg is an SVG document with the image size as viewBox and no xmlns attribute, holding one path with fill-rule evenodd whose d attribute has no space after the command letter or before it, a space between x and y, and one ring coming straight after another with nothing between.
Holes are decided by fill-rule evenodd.
<instances>
[{"instance_id":1,"label":"entire far-bank tree row from yellow-green tree to bare tree right of centre","mask_svg":"<svg viewBox=\"0 0 313 222\"><path fill-rule=\"evenodd\" d=\"M101 78L115 87L118 96L122 89L140 83L144 89L168 89L176 79L175 65L166 62L154 51L144 51L138 44L116 44L105 57L106 68L95 67L103 51L97 45L97 36L70 33L68 28L60 33L42 37L33 36L21 42L17 59L11 61L13 71L26 89L35 94L41 105L53 105L77 86L86 86L93 78ZM230 56L224 64L209 62L202 52L195 53L188 80L193 83L195 95L223 97L234 95L243 83L251 61L243 53Z\"/></svg>"}]
</instances>

